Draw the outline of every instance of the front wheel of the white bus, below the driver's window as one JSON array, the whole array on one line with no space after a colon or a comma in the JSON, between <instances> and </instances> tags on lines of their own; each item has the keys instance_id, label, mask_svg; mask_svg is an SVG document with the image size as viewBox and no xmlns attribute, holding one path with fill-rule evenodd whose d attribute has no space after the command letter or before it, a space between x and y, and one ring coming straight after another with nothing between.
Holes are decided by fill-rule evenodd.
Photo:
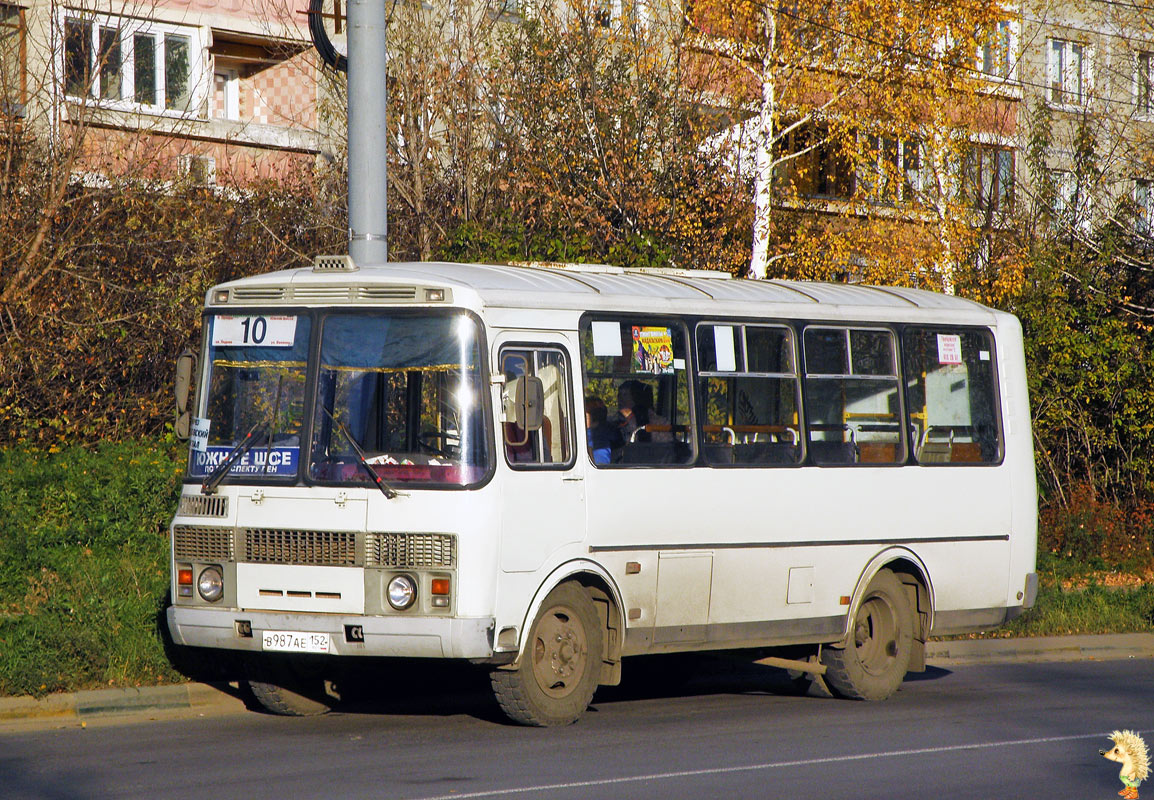
<instances>
[{"instance_id":1,"label":"front wheel of the white bus, below the driver's window","mask_svg":"<svg viewBox=\"0 0 1154 800\"><path fill-rule=\"evenodd\" d=\"M541 604L517 666L490 673L497 704L522 725L577 722L597 690L602 646L589 592L577 583L562 583Z\"/></svg>"}]
</instances>

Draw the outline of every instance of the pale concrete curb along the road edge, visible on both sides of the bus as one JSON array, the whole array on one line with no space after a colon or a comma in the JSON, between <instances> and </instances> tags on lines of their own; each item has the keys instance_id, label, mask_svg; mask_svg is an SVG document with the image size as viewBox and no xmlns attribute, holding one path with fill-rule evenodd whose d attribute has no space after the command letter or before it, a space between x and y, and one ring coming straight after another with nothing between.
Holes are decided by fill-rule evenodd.
<instances>
[{"instance_id":1,"label":"pale concrete curb along the road edge, visible on both sides of the bus","mask_svg":"<svg viewBox=\"0 0 1154 800\"><path fill-rule=\"evenodd\" d=\"M931 666L1116 660L1154 658L1154 634L1044 636L927 642ZM227 683L181 683L140 689L97 689L35 697L0 697L0 730L39 720L63 725L118 716L216 716L246 709L240 690Z\"/></svg>"}]
</instances>

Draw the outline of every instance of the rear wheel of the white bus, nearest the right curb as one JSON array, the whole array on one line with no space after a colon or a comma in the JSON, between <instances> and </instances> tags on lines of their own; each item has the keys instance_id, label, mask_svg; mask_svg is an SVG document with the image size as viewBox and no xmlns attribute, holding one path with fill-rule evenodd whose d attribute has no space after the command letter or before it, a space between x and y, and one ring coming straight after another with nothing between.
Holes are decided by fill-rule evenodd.
<instances>
[{"instance_id":1,"label":"rear wheel of the white bus, nearest the right curb","mask_svg":"<svg viewBox=\"0 0 1154 800\"><path fill-rule=\"evenodd\" d=\"M885 700L901 686L913 653L914 613L889 569L870 581L845 646L822 649L825 680L839 697Z\"/></svg>"}]
</instances>

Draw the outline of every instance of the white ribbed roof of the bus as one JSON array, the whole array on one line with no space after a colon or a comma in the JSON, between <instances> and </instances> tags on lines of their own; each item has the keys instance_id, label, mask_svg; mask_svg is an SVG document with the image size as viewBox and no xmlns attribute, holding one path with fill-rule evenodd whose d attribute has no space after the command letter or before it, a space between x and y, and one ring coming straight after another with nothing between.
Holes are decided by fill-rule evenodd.
<instances>
[{"instance_id":1,"label":"white ribbed roof of the bus","mask_svg":"<svg viewBox=\"0 0 1154 800\"><path fill-rule=\"evenodd\" d=\"M334 256L323 256L332 263ZM319 263L322 261L319 259ZM713 306L786 306L790 314L820 315L823 306L860 313L865 308L899 314L902 309L992 313L972 300L899 286L867 286L801 281L754 281L727 272L681 269L634 269L604 264L474 264L390 262L383 267L325 266L269 272L222 284L209 292L232 290L230 304L420 301L424 287L474 292L487 307L619 309L645 304L652 311L710 313ZM373 291L377 287L379 291ZM411 292L405 291L409 287ZM389 291L391 290L391 291ZM715 304L715 305L714 305ZM807 311L812 308L814 311ZM953 316L952 313L949 314ZM992 321L992 320L990 320Z\"/></svg>"}]
</instances>

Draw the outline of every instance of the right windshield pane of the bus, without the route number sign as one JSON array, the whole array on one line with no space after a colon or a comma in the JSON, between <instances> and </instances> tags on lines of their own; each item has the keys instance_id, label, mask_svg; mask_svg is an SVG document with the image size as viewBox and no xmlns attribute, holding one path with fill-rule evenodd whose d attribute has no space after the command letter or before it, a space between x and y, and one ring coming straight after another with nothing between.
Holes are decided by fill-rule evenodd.
<instances>
[{"instance_id":1,"label":"right windshield pane of the bus, without the route number sign","mask_svg":"<svg viewBox=\"0 0 1154 800\"><path fill-rule=\"evenodd\" d=\"M365 484L373 470L389 484L481 480L489 436L479 343L463 314L325 316L309 477Z\"/></svg>"}]
</instances>

